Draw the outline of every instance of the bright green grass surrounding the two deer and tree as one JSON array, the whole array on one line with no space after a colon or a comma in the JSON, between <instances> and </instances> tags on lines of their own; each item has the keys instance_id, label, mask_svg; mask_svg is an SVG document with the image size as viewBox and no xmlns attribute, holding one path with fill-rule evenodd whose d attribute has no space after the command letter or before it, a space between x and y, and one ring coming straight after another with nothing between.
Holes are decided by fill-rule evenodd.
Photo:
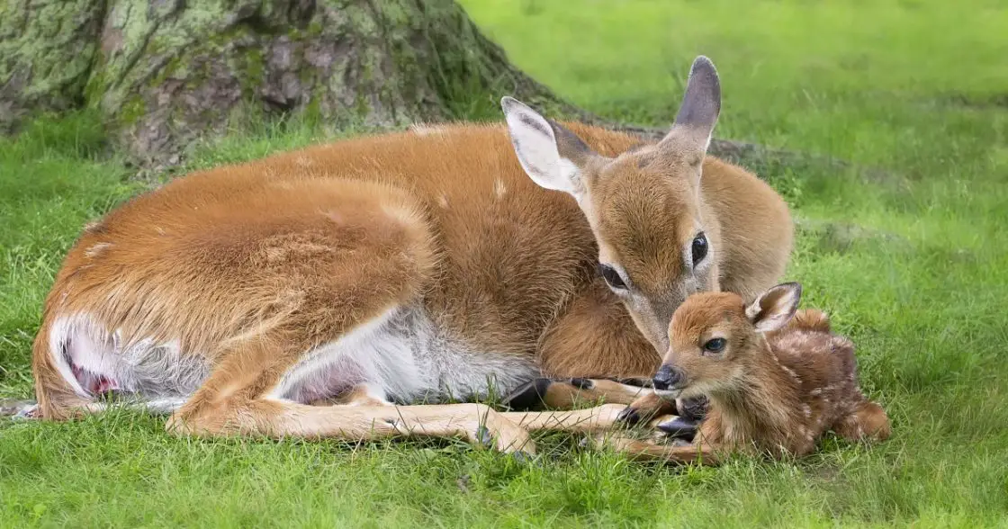
<instances>
[{"instance_id":1,"label":"bright green grass surrounding the two deer and tree","mask_svg":"<svg viewBox=\"0 0 1008 529\"><path fill-rule=\"evenodd\" d=\"M0 421L0 526L1008 526L1003 2L463 3L591 111L668 123L705 53L720 137L853 162L764 176L801 223L788 275L858 344L893 438L656 469L563 438L526 466L459 443L179 440L125 412ZM319 139L263 130L192 163ZM81 226L138 190L103 153L88 115L0 139L0 396L31 393L39 307Z\"/></svg>"}]
</instances>

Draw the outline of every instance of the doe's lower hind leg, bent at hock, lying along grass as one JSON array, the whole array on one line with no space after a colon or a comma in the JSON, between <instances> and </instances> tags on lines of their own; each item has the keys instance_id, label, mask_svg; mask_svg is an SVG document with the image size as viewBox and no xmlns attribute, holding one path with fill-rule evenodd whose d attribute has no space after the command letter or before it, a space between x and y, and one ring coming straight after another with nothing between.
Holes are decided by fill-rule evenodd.
<instances>
[{"instance_id":1,"label":"doe's lower hind leg, bent at hock, lying along grass","mask_svg":"<svg viewBox=\"0 0 1008 529\"><path fill-rule=\"evenodd\" d=\"M400 436L462 437L502 451L532 453L528 432L485 404L312 406L278 391L308 348L267 333L236 342L210 378L168 420L182 435L333 438L363 441ZM288 377L289 378L289 377ZM295 392L296 393L296 392ZM354 396L355 392L351 392Z\"/></svg>"}]
</instances>

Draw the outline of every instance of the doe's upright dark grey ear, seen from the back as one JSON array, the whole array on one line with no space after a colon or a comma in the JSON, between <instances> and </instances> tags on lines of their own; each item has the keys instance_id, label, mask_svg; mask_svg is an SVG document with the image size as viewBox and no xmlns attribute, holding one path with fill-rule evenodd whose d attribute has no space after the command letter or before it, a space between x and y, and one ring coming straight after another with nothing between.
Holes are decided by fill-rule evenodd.
<instances>
[{"instance_id":1,"label":"doe's upright dark grey ear, seen from the back","mask_svg":"<svg viewBox=\"0 0 1008 529\"><path fill-rule=\"evenodd\" d=\"M694 59L689 80L682 95L682 104L675 114L675 123L661 143L681 145L707 152L711 135L721 114L721 80L714 62L704 55Z\"/></svg>"}]
</instances>

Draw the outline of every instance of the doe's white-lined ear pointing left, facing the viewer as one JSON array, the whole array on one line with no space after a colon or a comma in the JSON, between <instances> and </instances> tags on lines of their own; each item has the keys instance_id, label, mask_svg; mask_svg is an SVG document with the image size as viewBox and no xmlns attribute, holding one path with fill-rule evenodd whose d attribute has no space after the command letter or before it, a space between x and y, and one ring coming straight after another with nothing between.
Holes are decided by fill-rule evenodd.
<instances>
[{"instance_id":1,"label":"doe's white-lined ear pointing left, facing the viewer","mask_svg":"<svg viewBox=\"0 0 1008 529\"><path fill-rule=\"evenodd\" d=\"M520 101L505 97L501 108L521 167L532 181L581 200L582 170L598 156L575 133L543 118Z\"/></svg>"}]
</instances>

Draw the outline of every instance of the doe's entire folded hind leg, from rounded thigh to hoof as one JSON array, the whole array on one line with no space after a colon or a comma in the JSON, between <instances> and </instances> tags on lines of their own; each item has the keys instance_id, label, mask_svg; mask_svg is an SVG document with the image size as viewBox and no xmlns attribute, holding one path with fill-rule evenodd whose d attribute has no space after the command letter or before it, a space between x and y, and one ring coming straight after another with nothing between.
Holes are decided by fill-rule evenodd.
<instances>
[{"instance_id":1,"label":"doe's entire folded hind leg, from rounded thigh to hoof","mask_svg":"<svg viewBox=\"0 0 1008 529\"><path fill-rule=\"evenodd\" d=\"M261 224L202 235L243 252L217 265L233 282L207 286L216 306L206 309L249 315L213 330L213 370L172 414L169 431L349 440L451 435L533 449L524 430L477 404L310 405L362 388L369 391L359 404L436 389L413 349L434 243L422 210L379 187L308 189L312 200L337 194L318 208L285 209L277 214L282 223L262 212ZM214 250L205 251L222 253Z\"/></svg>"}]
</instances>

